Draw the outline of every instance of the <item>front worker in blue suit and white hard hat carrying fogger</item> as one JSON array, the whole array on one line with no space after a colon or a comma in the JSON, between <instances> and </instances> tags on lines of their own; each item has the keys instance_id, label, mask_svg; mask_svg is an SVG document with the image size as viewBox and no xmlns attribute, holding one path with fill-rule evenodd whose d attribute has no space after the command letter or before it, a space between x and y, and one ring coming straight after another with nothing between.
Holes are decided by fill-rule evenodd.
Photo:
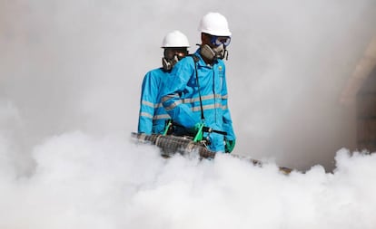
<instances>
[{"instance_id":1,"label":"front worker in blue suit and white hard hat carrying fogger","mask_svg":"<svg viewBox=\"0 0 376 229\"><path fill-rule=\"evenodd\" d=\"M202 43L192 57L178 62L163 86L163 107L173 119L175 135L195 134L200 125L218 132L206 132L208 146L215 152L231 153L235 146L233 121L227 100L223 59L231 32L219 13L205 14L200 22Z\"/></svg>"}]
</instances>

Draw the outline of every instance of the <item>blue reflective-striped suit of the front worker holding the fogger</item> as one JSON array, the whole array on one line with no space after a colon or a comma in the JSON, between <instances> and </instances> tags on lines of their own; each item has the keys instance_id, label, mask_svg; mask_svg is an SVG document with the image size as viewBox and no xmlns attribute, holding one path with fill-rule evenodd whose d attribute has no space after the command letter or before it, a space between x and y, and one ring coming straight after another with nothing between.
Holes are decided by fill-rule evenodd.
<instances>
[{"instance_id":1,"label":"blue reflective-striped suit of the front worker holding the fogger","mask_svg":"<svg viewBox=\"0 0 376 229\"><path fill-rule=\"evenodd\" d=\"M200 55L200 48L193 55L198 57L197 63L193 61L193 57L185 57L165 78L162 91L163 107L173 122L185 129L192 129L195 124L204 122L206 127L225 131L225 138L234 140L236 137L233 132L233 121L227 106L224 62L217 60L213 66L207 65ZM197 84L195 64L200 88ZM203 101L204 120L199 93ZM224 152L223 137L221 134L211 133L209 148L215 152Z\"/></svg>"}]
</instances>

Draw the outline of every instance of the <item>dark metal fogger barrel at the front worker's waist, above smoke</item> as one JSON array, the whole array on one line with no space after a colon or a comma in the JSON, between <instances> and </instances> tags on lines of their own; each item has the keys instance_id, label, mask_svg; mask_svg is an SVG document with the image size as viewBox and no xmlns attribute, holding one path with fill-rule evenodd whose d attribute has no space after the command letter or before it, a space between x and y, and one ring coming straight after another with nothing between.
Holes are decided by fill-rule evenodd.
<instances>
[{"instance_id":1,"label":"dark metal fogger barrel at the front worker's waist, above smoke","mask_svg":"<svg viewBox=\"0 0 376 229\"><path fill-rule=\"evenodd\" d=\"M152 134L146 135L143 133L132 133L133 138L137 138L142 142L150 142L151 144L161 148L163 156L169 157L176 153L183 155L198 153L200 157L213 158L215 152L205 148L203 145L194 142L191 138L177 137L172 135Z\"/></svg>"}]
</instances>

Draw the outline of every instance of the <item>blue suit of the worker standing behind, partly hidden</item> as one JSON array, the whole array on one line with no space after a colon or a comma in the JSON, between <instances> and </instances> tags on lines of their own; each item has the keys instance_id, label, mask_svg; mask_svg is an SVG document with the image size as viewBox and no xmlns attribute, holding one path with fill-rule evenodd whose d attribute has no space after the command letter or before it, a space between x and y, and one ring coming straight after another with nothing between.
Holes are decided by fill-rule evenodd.
<instances>
[{"instance_id":1,"label":"blue suit of the worker standing behind, partly hidden","mask_svg":"<svg viewBox=\"0 0 376 229\"><path fill-rule=\"evenodd\" d=\"M161 103L161 87L164 78L169 75L163 68L147 72L143 78L138 119L138 132L145 134L161 134L170 116Z\"/></svg>"}]
</instances>

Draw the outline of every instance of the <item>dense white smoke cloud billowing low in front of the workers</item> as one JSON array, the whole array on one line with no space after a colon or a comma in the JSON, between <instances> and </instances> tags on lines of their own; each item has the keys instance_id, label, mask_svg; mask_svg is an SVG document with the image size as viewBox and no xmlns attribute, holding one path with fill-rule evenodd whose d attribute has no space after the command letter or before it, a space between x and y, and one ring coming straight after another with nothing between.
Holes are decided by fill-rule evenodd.
<instances>
[{"instance_id":1,"label":"dense white smoke cloud billowing low in front of the workers","mask_svg":"<svg viewBox=\"0 0 376 229\"><path fill-rule=\"evenodd\" d=\"M289 176L228 155L163 159L124 136L82 132L46 139L33 157L28 177L0 175L0 228L376 225L376 157L346 149L332 174L316 166Z\"/></svg>"}]
</instances>

